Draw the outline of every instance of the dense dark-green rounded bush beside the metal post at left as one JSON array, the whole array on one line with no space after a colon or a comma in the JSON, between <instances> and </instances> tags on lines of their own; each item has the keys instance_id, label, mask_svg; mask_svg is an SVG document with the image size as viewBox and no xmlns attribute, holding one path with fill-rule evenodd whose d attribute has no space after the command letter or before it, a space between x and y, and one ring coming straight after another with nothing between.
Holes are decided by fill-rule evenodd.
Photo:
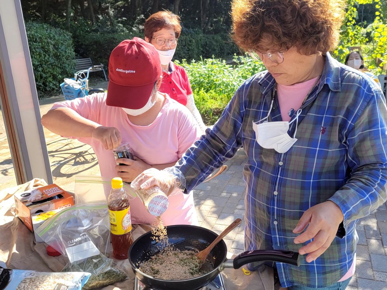
<instances>
[{"instance_id":1,"label":"dense dark-green rounded bush beside the metal post at left","mask_svg":"<svg viewBox=\"0 0 387 290\"><path fill-rule=\"evenodd\" d=\"M26 32L39 96L59 92L63 78L74 74L71 33L37 22L27 22Z\"/></svg>"}]
</instances>

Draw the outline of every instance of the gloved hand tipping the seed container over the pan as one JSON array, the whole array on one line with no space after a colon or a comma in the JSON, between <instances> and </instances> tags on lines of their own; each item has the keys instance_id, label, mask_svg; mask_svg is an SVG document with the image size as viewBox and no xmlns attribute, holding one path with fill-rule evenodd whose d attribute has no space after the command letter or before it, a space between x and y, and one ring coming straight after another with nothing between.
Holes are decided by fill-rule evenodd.
<instances>
[{"instance_id":1,"label":"gloved hand tipping the seed container over the pan","mask_svg":"<svg viewBox=\"0 0 387 290\"><path fill-rule=\"evenodd\" d=\"M158 186L166 195L170 195L178 186L176 177L170 172L150 168L137 176L130 184L134 189L147 189Z\"/></svg>"}]
</instances>

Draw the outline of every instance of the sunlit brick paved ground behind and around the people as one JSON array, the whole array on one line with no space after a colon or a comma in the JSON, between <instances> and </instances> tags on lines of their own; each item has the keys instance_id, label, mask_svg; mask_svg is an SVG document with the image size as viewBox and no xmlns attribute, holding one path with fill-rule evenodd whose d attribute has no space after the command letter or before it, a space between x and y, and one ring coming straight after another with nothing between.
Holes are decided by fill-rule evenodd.
<instances>
[{"instance_id":1,"label":"sunlit brick paved ground behind and around the people","mask_svg":"<svg viewBox=\"0 0 387 290\"><path fill-rule=\"evenodd\" d=\"M63 98L63 97L62 97ZM60 97L57 98L61 99ZM54 101L57 101L54 99ZM45 113L53 100L41 102ZM63 189L74 189L75 174L99 174L99 167L91 147L53 134L45 129L51 170L55 183ZM200 225L218 234L235 218L245 213L245 184L242 169L245 155L239 150L230 160L228 170L194 190L195 205ZM15 185L12 160L6 138L0 140L0 189ZM229 251L243 251L243 227L234 229L224 241ZM356 275L348 290L387 290L387 209L381 206L377 212L361 220L357 226L359 245Z\"/></svg>"}]
</instances>

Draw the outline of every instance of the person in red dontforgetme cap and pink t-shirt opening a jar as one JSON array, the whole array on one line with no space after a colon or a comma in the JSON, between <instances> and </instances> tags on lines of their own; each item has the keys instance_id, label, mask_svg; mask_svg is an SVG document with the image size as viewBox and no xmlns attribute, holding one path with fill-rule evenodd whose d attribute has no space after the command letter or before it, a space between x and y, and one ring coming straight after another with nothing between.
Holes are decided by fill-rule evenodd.
<instances>
[{"instance_id":1,"label":"person in red dontforgetme cap and pink t-shirt opening a jar","mask_svg":"<svg viewBox=\"0 0 387 290\"><path fill-rule=\"evenodd\" d=\"M108 92L55 103L41 123L91 145L102 176L131 182L147 168L172 166L201 132L186 107L159 92L161 72L154 46L140 38L122 41L110 55ZM111 150L120 143L129 143L134 160L116 162ZM130 201L130 212L132 223L155 218L138 197ZM194 198L177 192L162 219L166 225L197 225Z\"/></svg>"}]
</instances>

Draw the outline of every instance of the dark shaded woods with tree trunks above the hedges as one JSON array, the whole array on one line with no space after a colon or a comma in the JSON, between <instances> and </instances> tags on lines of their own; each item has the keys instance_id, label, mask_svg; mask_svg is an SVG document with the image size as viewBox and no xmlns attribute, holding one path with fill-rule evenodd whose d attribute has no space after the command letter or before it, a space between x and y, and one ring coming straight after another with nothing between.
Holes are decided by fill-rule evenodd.
<instances>
[{"instance_id":1,"label":"dark shaded woods with tree trunks above the hedges","mask_svg":"<svg viewBox=\"0 0 387 290\"><path fill-rule=\"evenodd\" d=\"M131 31L139 22L159 10L180 15L187 29L205 33L225 33L231 24L230 0L22 0L26 20L49 24L84 25L99 29ZM140 20L140 21L139 21Z\"/></svg>"}]
</instances>

